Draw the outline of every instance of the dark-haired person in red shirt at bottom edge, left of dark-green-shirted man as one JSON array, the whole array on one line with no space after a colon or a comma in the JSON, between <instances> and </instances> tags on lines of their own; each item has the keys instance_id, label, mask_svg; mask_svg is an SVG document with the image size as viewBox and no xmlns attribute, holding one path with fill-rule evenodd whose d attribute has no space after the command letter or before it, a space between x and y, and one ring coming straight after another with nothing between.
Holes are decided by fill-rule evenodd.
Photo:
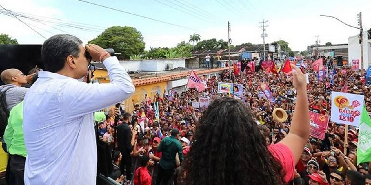
<instances>
[{"instance_id":1,"label":"dark-haired person in red shirt at bottom edge, left of dark-green-shirted man","mask_svg":"<svg viewBox=\"0 0 371 185\"><path fill-rule=\"evenodd\" d=\"M134 185L151 185L152 177L148 172L147 166L150 164L150 158L147 155L140 157L141 167L135 170Z\"/></svg>"}]
</instances>

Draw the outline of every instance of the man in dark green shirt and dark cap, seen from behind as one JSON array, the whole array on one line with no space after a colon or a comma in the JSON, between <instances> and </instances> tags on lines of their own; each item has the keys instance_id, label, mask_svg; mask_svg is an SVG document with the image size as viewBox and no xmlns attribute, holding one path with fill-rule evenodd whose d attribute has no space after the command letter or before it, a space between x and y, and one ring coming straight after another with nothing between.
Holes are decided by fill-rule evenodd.
<instances>
[{"instance_id":1,"label":"man in dark green shirt and dark cap, seen from behind","mask_svg":"<svg viewBox=\"0 0 371 185\"><path fill-rule=\"evenodd\" d=\"M167 185L171 175L174 174L175 155L178 153L180 162L183 161L183 148L177 137L179 130L174 128L171 130L171 136L165 137L157 147L158 152L162 152L160 163L158 166L158 174L156 185Z\"/></svg>"}]
</instances>

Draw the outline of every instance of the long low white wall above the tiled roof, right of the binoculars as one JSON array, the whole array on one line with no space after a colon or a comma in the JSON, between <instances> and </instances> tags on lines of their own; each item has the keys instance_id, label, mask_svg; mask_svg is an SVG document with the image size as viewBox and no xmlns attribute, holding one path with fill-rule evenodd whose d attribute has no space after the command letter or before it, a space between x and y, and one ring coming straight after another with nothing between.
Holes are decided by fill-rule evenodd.
<instances>
[{"instance_id":1,"label":"long low white wall above the tiled roof, right of the binoculars","mask_svg":"<svg viewBox=\"0 0 371 185\"><path fill-rule=\"evenodd\" d=\"M127 71L165 71L167 64L173 64L173 69L185 67L185 58L156 60L121 60L120 64Z\"/></svg>"}]
</instances>

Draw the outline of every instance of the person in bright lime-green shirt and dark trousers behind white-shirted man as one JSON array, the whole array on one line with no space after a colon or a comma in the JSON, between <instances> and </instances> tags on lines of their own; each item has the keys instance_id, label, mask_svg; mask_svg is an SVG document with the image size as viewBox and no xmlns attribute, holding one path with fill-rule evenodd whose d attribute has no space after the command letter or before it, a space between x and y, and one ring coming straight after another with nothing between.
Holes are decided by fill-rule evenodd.
<instances>
[{"instance_id":1,"label":"person in bright lime-green shirt and dark trousers behind white-shirted man","mask_svg":"<svg viewBox=\"0 0 371 185\"><path fill-rule=\"evenodd\" d=\"M26 162L26 147L23 136L23 101L12 108L8 125L4 132L7 151L12 155L10 170L16 178L17 185L24 184L24 163Z\"/></svg>"}]
</instances>

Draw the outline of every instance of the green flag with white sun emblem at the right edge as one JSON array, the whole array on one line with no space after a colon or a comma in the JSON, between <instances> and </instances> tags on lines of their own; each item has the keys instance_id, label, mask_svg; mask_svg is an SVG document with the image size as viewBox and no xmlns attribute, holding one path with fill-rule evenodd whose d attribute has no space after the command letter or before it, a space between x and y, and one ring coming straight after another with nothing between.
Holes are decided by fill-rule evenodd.
<instances>
[{"instance_id":1,"label":"green flag with white sun emblem at the right edge","mask_svg":"<svg viewBox=\"0 0 371 185\"><path fill-rule=\"evenodd\" d=\"M371 119L363 106L361 124L359 124L357 165L371 161Z\"/></svg>"}]
</instances>

